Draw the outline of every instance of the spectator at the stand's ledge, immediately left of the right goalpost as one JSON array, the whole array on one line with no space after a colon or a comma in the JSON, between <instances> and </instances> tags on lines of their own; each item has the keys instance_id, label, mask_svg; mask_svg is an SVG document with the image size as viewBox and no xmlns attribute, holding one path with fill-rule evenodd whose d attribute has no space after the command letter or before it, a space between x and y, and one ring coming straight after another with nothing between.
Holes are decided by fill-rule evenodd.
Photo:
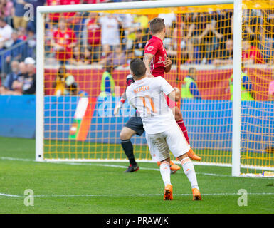
<instances>
[{"instance_id":1,"label":"spectator at the stand's ledge, immediately left of the right goalpost","mask_svg":"<svg viewBox=\"0 0 274 228\"><path fill-rule=\"evenodd\" d=\"M213 64L217 66L223 64L233 64L233 41L231 39L226 41L225 49L219 48Z\"/></svg>"}]
</instances>

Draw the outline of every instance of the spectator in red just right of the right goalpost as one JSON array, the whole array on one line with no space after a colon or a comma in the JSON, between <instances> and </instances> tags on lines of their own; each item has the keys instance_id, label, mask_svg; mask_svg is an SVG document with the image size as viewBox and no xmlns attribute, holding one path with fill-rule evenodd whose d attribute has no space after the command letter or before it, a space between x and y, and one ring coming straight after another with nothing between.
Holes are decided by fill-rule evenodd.
<instances>
[{"instance_id":1,"label":"spectator in red just right of the right goalpost","mask_svg":"<svg viewBox=\"0 0 274 228\"><path fill-rule=\"evenodd\" d=\"M242 60L244 64L258 64L264 63L263 57L255 46L251 46L247 38L242 41Z\"/></svg>"}]
</instances>

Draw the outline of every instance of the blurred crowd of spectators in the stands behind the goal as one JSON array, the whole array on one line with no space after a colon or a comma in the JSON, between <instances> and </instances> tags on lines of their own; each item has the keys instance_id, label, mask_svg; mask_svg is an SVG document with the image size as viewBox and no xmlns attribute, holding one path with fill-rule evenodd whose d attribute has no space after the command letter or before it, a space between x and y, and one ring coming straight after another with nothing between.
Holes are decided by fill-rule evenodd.
<instances>
[{"instance_id":1,"label":"blurred crowd of spectators in the stands behind the goal","mask_svg":"<svg viewBox=\"0 0 274 228\"><path fill-rule=\"evenodd\" d=\"M26 4L94 4L107 0L0 0L0 94L35 93L36 14L26 21ZM112 1L119 2L119 0ZM25 7L25 8L24 8ZM155 15L164 18L164 46L174 64L233 63L233 9ZM243 64L272 64L274 11L248 9L243 15ZM179 30L179 31L178 31ZM181 37L178 42L178 36ZM102 66L111 72L142 58L149 16L64 13L46 16L45 53L50 66ZM178 62L178 51L180 60Z\"/></svg>"}]
</instances>

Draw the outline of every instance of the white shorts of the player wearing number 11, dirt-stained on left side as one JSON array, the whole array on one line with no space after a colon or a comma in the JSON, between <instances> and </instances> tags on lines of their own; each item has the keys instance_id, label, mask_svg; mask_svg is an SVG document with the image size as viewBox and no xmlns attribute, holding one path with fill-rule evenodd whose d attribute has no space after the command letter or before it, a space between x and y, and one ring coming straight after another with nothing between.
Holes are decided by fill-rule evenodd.
<instances>
[{"instance_id":1,"label":"white shorts of the player wearing number 11, dirt-stained on left side","mask_svg":"<svg viewBox=\"0 0 274 228\"><path fill-rule=\"evenodd\" d=\"M162 162L169 158L169 150L175 157L180 157L190 150L190 145L177 123L162 133L146 133L146 138L152 160L155 162Z\"/></svg>"}]
</instances>

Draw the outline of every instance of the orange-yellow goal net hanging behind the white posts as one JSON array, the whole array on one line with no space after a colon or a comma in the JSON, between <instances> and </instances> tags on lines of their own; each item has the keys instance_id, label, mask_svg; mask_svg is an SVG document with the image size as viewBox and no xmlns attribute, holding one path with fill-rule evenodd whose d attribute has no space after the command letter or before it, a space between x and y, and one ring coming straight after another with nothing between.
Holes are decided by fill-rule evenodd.
<instances>
[{"instance_id":1,"label":"orange-yellow goal net hanging behind the white posts","mask_svg":"<svg viewBox=\"0 0 274 228\"><path fill-rule=\"evenodd\" d=\"M149 20L161 17L172 60L164 77L181 89L179 108L191 147L202 157L200 164L231 166L233 22L238 16L233 4L222 3L156 7L154 1L154 8L136 9L132 3L132 9L120 10L115 9L119 4L88 4L78 11L39 7L38 77L43 82L37 90L36 159L126 160L120 130L134 111L127 101L118 115L113 111L125 92L130 60L142 58L152 37ZM243 1L241 172L274 169L273 6ZM144 135L131 140L135 158L151 160Z\"/></svg>"}]
</instances>

